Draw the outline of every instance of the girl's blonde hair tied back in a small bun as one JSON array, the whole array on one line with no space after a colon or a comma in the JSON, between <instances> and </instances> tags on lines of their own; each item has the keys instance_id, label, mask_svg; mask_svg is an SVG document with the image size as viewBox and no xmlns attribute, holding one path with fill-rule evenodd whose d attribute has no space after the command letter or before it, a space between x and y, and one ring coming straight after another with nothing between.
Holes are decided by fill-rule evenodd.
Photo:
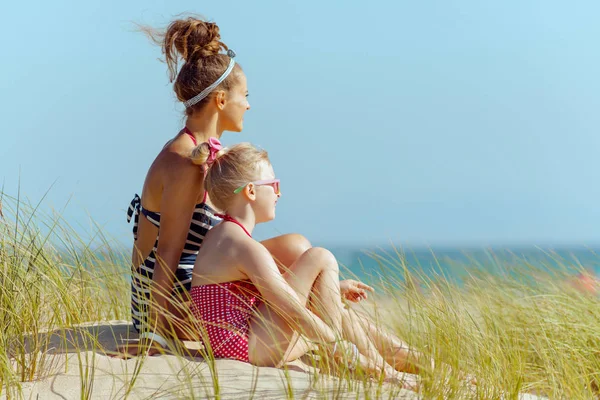
<instances>
[{"instance_id":1,"label":"girl's blonde hair tied back in a small bun","mask_svg":"<svg viewBox=\"0 0 600 400\"><path fill-rule=\"evenodd\" d=\"M194 164L205 165L210 155L208 143L201 143L192 151ZM208 165L204 188L215 207L226 211L235 196L235 189L259 180L261 167L270 165L269 154L250 143L239 143L219 150L215 161Z\"/></svg>"}]
</instances>

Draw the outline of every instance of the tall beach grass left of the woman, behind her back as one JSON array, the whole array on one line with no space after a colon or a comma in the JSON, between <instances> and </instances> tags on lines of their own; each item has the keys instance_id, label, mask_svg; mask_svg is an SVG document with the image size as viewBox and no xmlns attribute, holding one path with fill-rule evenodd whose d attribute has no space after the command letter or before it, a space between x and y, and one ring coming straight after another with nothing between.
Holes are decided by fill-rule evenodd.
<instances>
[{"instance_id":1,"label":"tall beach grass left of the woman, behind her back","mask_svg":"<svg viewBox=\"0 0 600 400\"><path fill-rule=\"evenodd\" d=\"M74 327L126 318L127 271L124 255L110 250L99 229L84 241L60 214L44 215L39 204L2 193L0 200L0 386L18 398L23 382L64 367L57 341L81 351L96 347L92 334L72 343ZM94 371L80 361L83 396Z\"/></svg>"}]
</instances>

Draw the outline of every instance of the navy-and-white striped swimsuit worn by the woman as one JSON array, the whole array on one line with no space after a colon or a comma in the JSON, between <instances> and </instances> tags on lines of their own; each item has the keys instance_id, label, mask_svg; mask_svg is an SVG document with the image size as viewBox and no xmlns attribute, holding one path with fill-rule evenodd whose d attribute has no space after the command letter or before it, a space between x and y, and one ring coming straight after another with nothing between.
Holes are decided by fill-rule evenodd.
<instances>
[{"instance_id":1,"label":"navy-and-white striped swimsuit worn by the woman","mask_svg":"<svg viewBox=\"0 0 600 400\"><path fill-rule=\"evenodd\" d=\"M129 209L127 210L127 222L134 218L133 236L137 238L137 229L139 215L143 214L152 225L160 230L160 213L146 210L141 206L141 199L136 194ZM210 228L221 221L215 217L215 211L206 204L206 192L202 203L197 204L190 223L185 247L179 259L179 265L175 272L175 285L173 295L182 292L189 292L192 285L192 269L196 262L196 255L202 245L202 240ZM159 232L160 234L160 232ZM150 298L150 282L154 274L154 265L156 264L156 249L158 248L158 238L154 242L154 247L150 255L140 265L131 279L131 315L133 326L139 332L142 329L142 322L148 316L148 300Z\"/></svg>"}]
</instances>

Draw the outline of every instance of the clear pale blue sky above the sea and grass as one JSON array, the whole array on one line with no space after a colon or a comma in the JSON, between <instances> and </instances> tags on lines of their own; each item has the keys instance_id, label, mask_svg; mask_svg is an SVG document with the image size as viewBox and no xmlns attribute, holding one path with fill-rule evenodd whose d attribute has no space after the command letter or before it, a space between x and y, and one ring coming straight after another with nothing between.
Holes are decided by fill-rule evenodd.
<instances>
[{"instance_id":1,"label":"clear pale blue sky above the sea and grass","mask_svg":"<svg viewBox=\"0 0 600 400\"><path fill-rule=\"evenodd\" d=\"M134 23L196 12L246 71L242 133L282 180L258 238L600 243L600 3L54 1L0 12L0 182L85 234L125 209L182 126ZM70 199L70 200L69 200Z\"/></svg>"}]
</instances>

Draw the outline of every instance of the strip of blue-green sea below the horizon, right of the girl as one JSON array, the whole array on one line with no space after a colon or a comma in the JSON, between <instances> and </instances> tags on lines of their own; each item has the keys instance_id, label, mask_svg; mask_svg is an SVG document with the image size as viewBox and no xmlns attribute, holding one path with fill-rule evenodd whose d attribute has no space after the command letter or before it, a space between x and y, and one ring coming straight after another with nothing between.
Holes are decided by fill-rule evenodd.
<instances>
[{"instance_id":1,"label":"strip of blue-green sea below the horizon, right of the girl","mask_svg":"<svg viewBox=\"0 0 600 400\"><path fill-rule=\"evenodd\" d=\"M461 283L474 272L502 276L539 271L560 277L587 272L600 276L600 246L331 246L329 249L338 259L341 274L345 278L357 278L371 284L377 284L382 279L404 281L406 275Z\"/></svg>"}]
</instances>

